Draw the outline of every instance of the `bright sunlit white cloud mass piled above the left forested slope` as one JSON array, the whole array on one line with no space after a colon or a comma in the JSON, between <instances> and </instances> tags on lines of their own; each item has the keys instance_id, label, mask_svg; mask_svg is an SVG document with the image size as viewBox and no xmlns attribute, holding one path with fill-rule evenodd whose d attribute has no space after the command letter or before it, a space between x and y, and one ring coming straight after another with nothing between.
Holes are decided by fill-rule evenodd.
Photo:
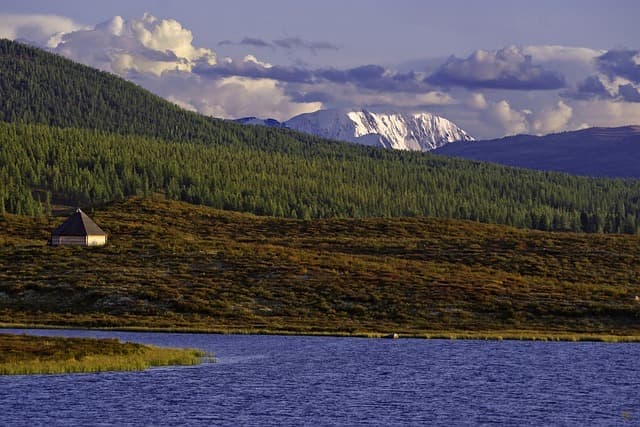
<instances>
[{"instance_id":1,"label":"bright sunlit white cloud mass piled above the left forested slope","mask_svg":"<svg viewBox=\"0 0 640 427\"><path fill-rule=\"evenodd\" d=\"M169 101L202 114L223 118L273 117L284 120L322 108L320 102L294 102L271 79L206 79L191 71L215 66L210 49L193 45L193 34L174 19L116 16L93 28L81 28L56 16L0 16L0 34L27 38L75 61L135 81ZM223 62L231 62L224 59ZM269 68L247 55L244 62Z\"/></svg>"}]
</instances>

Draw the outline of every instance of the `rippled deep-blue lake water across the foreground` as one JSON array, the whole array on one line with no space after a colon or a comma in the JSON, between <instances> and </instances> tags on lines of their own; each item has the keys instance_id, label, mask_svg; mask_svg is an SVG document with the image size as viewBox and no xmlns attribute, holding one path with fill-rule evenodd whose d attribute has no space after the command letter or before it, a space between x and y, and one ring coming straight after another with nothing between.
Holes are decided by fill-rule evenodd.
<instances>
[{"instance_id":1,"label":"rippled deep-blue lake water across the foreground","mask_svg":"<svg viewBox=\"0 0 640 427\"><path fill-rule=\"evenodd\" d=\"M0 425L640 425L640 345L0 330L218 363L0 377Z\"/></svg>"}]
</instances>

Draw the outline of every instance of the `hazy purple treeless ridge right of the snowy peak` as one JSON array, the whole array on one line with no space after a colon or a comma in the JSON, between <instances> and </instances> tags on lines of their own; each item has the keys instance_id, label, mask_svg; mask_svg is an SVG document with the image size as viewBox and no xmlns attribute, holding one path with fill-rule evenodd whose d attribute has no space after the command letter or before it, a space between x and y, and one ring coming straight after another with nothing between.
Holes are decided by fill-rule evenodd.
<instances>
[{"instance_id":1,"label":"hazy purple treeless ridge right of the snowy peak","mask_svg":"<svg viewBox=\"0 0 640 427\"><path fill-rule=\"evenodd\" d=\"M517 135L473 144L456 142L434 152L576 175L640 178L640 126Z\"/></svg>"}]
</instances>

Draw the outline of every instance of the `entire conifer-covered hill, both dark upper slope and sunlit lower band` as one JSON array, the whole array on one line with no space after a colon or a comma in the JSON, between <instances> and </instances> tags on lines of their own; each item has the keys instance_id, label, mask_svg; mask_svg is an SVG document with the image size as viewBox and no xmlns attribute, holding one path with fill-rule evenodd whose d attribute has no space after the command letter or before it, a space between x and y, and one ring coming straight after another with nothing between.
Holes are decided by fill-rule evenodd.
<instances>
[{"instance_id":1,"label":"entire conifer-covered hill, both dark upper slope and sunlit lower band","mask_svg":"<svg viewBox=\"0 0 640 427\"><path fill-rule=\"evenodd\" d=\"M510 169L240 126L0 41L0 211L38 215L128 195L262 215L435 216L635 233L637 181Z\"/></svg>"}]
</instances>

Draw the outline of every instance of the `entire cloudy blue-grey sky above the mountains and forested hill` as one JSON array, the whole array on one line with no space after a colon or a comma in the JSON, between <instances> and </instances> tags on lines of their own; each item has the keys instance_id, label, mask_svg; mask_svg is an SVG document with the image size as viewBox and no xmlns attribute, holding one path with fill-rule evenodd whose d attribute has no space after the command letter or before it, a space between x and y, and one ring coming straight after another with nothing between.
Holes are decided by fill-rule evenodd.
<instances>
[{"instance_id":1,"label":"entire cloudy blue-grey sky above the mountains and forested hill","mask_svg":"<svg viewBox=\"0 0 640 427\"><path fill-rule=\"evenodd\" d=\"M0 0L0 37L190 110L431 112L476 138L640 124L637 0Z\"/></svg>"}]
</instances>

